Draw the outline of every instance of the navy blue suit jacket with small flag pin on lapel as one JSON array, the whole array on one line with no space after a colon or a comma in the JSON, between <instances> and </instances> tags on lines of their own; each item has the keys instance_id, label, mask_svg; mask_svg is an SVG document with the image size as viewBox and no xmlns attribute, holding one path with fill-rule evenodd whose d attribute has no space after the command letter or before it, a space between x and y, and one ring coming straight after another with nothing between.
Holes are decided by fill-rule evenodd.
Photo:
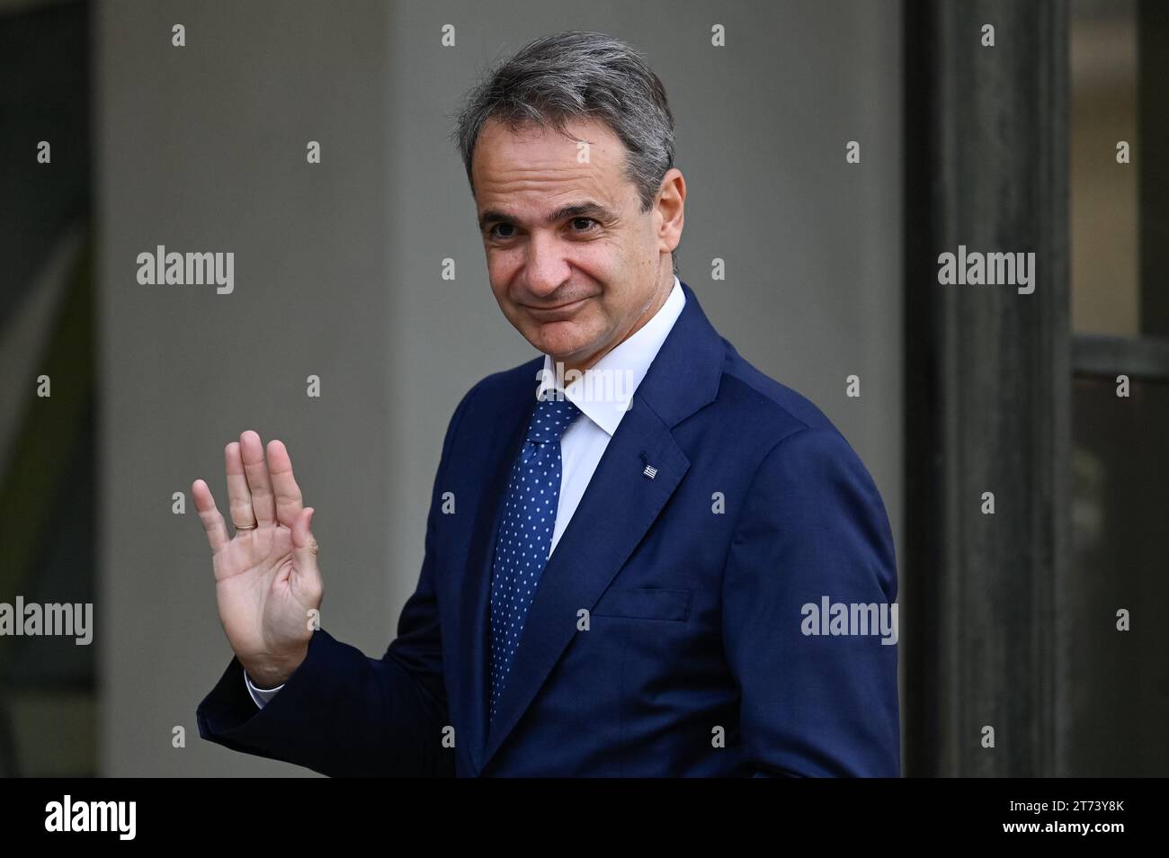
<instances>
[{"instance_id":1,"label":"navy blue suit jacket with small flag pin on lapel","mask_svg":"<svg viewBox=\"0 0 1169 858\"><path fill-rule=\"evenodd\" d=\"M233 658L200 734L327 775L899 775L897 645L807 635L802 613L895 600L880 496L828 418L683 288L544 570L490 729L492 548L542 358L455 410L386 655L319 629L263 710Z\"/></svg>"}]
</instances>

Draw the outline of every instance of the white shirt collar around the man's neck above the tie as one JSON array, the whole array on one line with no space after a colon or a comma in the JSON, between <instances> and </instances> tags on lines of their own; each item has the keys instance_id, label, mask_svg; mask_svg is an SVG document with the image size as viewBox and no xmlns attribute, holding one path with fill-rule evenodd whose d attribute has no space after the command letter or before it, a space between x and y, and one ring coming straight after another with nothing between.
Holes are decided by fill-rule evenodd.
<instances>
[{"instance_id":1,"label":"white shirt collar around the man's neck above the tie","mask_svg":"<svg viewBox=\"0 0 1169 858\"><path fill-rule=\"evenodd\" d=\"M685 304L686 296L682 291L678 275L675 275L673 289L650 320L586 369L580 378L558 378L555 361L545 354L537 399L544 399L549 389L563 390L563 396L569 402L611 436L617 430L622 415L629 410L634 392L649 372L650 364ZM560 372L563 373L562 366ZM565 385L565 381L568 383Z\"/></svg>"}]
</instances>

